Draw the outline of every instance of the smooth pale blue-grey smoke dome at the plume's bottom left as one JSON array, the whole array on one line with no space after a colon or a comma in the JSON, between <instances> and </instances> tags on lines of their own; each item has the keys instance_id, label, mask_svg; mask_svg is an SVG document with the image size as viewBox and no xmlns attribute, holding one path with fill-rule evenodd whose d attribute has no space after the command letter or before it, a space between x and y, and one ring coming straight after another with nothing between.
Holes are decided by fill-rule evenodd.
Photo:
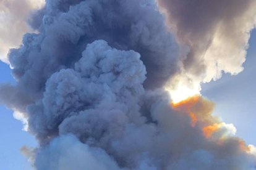
<instances>
[{"instance_id":1,"label":"smooth pale blue-grey smoke dome at the plume's bottom left","mask_svg":"<svg viewBox=\"0 0 256 170\"><path fill-rule=\"evenodd\" d=\"M104 150L82 144L72 135L60 136L41 148L35 166L38 170L120 169Z\"/></svg>"}]
</instances>

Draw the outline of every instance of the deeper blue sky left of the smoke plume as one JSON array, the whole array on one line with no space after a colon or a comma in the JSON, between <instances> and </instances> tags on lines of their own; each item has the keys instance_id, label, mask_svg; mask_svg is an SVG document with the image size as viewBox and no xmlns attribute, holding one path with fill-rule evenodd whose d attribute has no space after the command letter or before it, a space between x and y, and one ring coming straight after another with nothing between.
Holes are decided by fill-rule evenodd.
<instances>
[{"instance_id":1,"label":"deeper blue sky left of the smoke plume","mask_svg":"<svg viewBox=\"0 0 256 170\"><path fill-rule=\"evenodd\" d=\"M8 65L0 62L1 83L14 80L11 76L11 70ZM20 153L20 148L24 145L36 146L33 136L22 131L22 123L12 116L12 111L0 107L0 164L1 169L18 170L31 169L27 159Z\"/></svg>"}]
</instances>

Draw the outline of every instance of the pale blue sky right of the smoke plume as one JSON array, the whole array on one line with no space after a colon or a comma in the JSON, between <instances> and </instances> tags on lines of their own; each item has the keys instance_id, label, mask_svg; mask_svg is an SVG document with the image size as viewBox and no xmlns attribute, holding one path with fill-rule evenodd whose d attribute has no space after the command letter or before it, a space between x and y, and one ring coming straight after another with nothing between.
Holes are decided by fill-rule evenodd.
<instances>
[{"instance_id":1,"label":"pale blue sky right of the smoke plume","mask_svg":"<svg viewBox=\"0 0 256 170\"><path fill-rule=\"evenodd\" d=\"M226 123L233 123L237 136L256 145L256 31L252 31L250 47L239 75L223 75L221 79L203 84L202 94L216 103L215 115Z\"/></svg>"}]
</instances>

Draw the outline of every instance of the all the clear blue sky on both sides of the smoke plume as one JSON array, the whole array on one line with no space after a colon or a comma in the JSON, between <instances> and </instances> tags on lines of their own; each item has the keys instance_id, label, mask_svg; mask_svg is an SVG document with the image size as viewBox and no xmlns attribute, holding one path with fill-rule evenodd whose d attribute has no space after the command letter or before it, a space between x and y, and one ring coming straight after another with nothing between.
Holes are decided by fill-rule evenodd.
<instances>
[{"instance_id":1,"label":"all the clear blue sky on both sides of the smoke plume","mask_svg":"<svg viewBox=\"0 0 256 170\"><path fill-rule=\"evenodd\" d=\"M237 127L237 136L247 144L256 145L256 31L252 32L244 71L237 76L223 75L218 81L203 84L202 94L216 103L215 115L226 123ZM11 82L10 68L0 62L0 82ZM1 169L31 169L27 160L20 153L23 145L35 147L33 136L22 131L22 123L12 116L12 111L0 107L0 164Z\"/></svg>"}]
</instances>

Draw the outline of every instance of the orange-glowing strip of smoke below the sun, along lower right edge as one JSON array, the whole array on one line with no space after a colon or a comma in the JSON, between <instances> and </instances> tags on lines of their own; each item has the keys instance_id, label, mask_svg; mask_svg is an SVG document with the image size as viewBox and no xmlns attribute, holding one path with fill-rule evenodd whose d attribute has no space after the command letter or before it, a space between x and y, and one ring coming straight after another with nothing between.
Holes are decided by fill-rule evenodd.
<instances>
[{"instance_id":1,"label":"orange-glowing strip of smoke below the sun, along lower right edge","mask_svg":"<svg viewBox=\"0 0 256 170\"><path fill-rule=\"evenodd\" d=\"M214 141L218 147L233 147L236 152L256 155L256 148L247 146L244 140L235 136L236 127L233 124L221 122L213 116L214 103L204 99L200 95L190 97L178 103L171 103L171 107L178 114L186 114L190 118L190 126L196 127L195 131L201 131L206 140Z\"/></svg>"}]
</instances>

